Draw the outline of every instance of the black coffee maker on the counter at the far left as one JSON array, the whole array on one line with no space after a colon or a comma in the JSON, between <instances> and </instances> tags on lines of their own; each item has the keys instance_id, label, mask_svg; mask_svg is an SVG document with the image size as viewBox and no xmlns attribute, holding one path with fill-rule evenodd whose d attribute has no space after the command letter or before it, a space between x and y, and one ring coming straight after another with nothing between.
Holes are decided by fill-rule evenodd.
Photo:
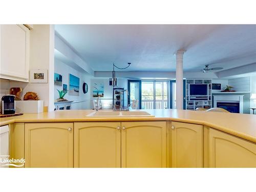
<instances>
[{"instance_id":1,"label":"black coffee maker on the counter at the far left","mask_svg":"<svg viewBox=\"0 0 256 192\"><path fill-rule=\"evenodd\" d=\"M15 113L15 95L5 95L1 101L1 114L8 115Z\"/></svg>"}]
</instances>

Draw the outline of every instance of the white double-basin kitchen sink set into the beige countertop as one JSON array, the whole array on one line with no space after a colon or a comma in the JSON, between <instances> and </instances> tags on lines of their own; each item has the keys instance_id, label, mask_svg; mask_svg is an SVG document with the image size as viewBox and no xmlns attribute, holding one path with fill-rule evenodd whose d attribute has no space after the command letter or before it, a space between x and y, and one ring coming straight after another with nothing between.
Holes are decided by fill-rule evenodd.
<instances>
[{"instance_id":1,"label":"white double-basin kitchen sink set into the beige countertop","mask_svg":"<svg viewBox=\"0 0 256 192\"><path fill-rule=\"evenodd\" d=\"M86 117L155 117L145 111L96 111Z\"/></svg>"}]
</instances>

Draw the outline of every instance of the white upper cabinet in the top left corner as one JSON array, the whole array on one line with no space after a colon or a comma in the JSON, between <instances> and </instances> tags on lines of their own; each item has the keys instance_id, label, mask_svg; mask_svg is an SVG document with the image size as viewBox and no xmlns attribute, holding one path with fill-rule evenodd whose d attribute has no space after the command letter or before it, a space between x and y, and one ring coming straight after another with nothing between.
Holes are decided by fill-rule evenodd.
<instances>
[{"instance_id":1,"label":"white upper cabinet in the top left corner","mask_svg":"<svg viewBox=\"0 0 256 192\"><path fill-rule=\"evenodd\" d=\"M29 29L0 25L0 78L29 81Z\"/></svg>"}]
</instances>

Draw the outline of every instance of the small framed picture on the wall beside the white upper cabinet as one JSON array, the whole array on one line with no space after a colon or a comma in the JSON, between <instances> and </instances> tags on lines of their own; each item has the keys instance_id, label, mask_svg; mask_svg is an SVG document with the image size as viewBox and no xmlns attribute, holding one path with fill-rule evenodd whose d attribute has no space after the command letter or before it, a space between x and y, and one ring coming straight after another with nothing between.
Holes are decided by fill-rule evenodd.
<instances>
[{"instance_id":1,"label":"small framed picture on the wall beside the white upper cabinet","mask_svg":"<svg viewBox=\"0 0 256 192\"><path fill-rule=\"evenodd\" d=\"M31 69L29 71L29 81L31 83L48 83L48 70Z\"/></svg>"}]
</instances>

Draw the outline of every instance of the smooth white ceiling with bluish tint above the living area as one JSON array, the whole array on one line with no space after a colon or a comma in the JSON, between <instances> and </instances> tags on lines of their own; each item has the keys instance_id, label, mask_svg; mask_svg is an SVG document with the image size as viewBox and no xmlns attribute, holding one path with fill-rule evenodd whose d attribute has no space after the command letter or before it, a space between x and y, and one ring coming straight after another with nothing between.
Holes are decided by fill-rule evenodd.
<instances>
[{"instance_id":1,"label":"smooth white ceiling with bluish tint above the living area","mask_svg":"<svg viewBox=\"0 0 256 192\"><path fill-rule=\"evenodd\" d=\"M223 70L256 62L256 25L55 25L94 71L175 71L175 53L185 49L184 71L205 64ZM220 70L221 71L221 70Z\"/></svg>"}]
</instances>

